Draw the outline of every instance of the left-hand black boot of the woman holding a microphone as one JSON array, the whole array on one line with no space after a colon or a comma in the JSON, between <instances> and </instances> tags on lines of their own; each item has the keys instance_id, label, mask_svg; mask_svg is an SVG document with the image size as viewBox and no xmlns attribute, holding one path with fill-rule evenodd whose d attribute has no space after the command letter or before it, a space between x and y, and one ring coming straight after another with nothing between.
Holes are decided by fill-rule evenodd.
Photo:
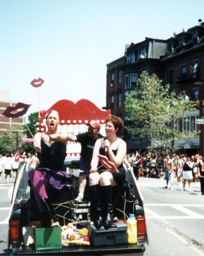
<instances>
[{"instance_id":1,"label":"left-hand black boot of the woman holding a microphone","mask_svg":"<svg viewBox=\"0 0 204 256\"><path fill-rule=\"evenodd\" d=\"M89 190L91 192L91 210L93 211L92 220L94 222L95 227L101 227L103 225L99 187L100 186L98 184L89 187Z\"/></svg>"}]
</instances>

